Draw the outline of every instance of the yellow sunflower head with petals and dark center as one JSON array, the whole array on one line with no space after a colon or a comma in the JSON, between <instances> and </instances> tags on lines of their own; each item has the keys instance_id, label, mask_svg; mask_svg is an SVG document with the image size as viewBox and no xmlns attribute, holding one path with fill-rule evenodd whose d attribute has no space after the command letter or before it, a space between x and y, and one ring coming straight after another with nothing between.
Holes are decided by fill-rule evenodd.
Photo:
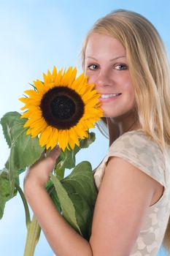
<instances>
[{"instance_id":1,"label":"yellow sunflower head with petals and dark center","mask_svg":"<svg viewBox=\"0 0 170 256\"><path fill-rule=\"evenodd\" d=\"M20 98L26 110L21 118L28 118L24 127L32 138L39 135L40 146L63 151L79 146L79 139L88 138L88 129L94 127L103 112L100 94L89 84L84 74L76 78L77 69L69 67L52 74L43 74L44 81L34 81L34 89L26 90L28 97Z\"/></svg>"}]
</instances>

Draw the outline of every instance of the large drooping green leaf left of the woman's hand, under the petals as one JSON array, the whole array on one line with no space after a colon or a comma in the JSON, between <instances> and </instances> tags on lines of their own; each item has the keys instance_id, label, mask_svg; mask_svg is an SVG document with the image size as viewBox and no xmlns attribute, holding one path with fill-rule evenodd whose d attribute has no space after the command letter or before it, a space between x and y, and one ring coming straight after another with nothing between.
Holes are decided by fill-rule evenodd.
<instances>
[{"instance_id":1,"label":"large drooping green leaf left of the woman's hand, under the petals","mask_svg":"<svg viewBox=\"0 0 170 256\"><path fill-rule=\"evenodd\" d=\"M23 128L26 118L20 118L20 113L9 112L1 118L1 125L4 136L11 148L9 159L6 163L8 170L16 173L16 170L22 170L33 165L45 149L39 146L39 139L31 138L26 135L28 128Z\"/></svg>"}]
</instances>

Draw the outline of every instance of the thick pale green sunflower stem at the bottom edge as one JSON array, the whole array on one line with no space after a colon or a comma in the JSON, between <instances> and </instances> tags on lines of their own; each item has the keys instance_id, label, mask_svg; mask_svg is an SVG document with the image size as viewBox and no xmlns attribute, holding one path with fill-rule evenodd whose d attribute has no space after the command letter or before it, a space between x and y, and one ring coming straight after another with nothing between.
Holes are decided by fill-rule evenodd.
<instances>
[{"instance_id":1,"label":"thick pale green sunflower stem at the bottom edge","mask_svg":"<svg viewBox=\"0 0 170 256\"><path fill-rule=\"evenodd\" d=\"M26 246L23 256L34 256L34 251L36 244L39 241L41 228L36 220L36 217L33 216L31 223L28 225L27 237L26 237Z\"/></svg>"}]
</instances>

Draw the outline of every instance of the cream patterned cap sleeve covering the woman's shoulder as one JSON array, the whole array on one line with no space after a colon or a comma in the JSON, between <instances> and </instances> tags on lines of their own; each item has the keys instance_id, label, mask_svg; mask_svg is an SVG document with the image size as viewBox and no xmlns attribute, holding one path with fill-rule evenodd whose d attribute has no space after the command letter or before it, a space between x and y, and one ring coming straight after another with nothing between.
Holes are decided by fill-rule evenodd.
<instances>
[{"instance_id":1,"label":"cream patterned cap sleeve covering the woman's shoulder","mask_svg":"<svg viewBox=\"0 0 170 256\"><path fill-rule=\"evenodd\" d=\"M109 157L120 157L166 186L165 158L161 148L142 130L125 132L112 143Z\"/></svg>"}]
</instances>

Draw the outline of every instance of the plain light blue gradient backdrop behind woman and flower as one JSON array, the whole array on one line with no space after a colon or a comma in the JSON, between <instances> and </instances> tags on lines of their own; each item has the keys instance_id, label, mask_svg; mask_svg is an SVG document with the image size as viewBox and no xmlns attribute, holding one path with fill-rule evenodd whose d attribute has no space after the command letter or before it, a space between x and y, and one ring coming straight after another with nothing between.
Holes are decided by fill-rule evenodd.
<instances>
[{"instance_id":1,"label":"plain light blue gradient backdrop behind woman and flower","mask_svg":"<svg viewBox=\"0 0 170 256\"><path fill-rule=\"evenodd\" d=\"M77 66L80 49L90 26L112 10L134 10L147 17L158 29L170 51L169 8L167 0L93 0L93 1L0 1L0 118L4 113L20 111L18 98L42 72L56 67ZM96 129L96 143L77 157L89 160L93 168L107 152L107 139ZM0 169L4 167L9 149L0 128ZM23 176L20 178L23 184ZM0 221L0 255L22 256L26 240L23 204L20 196L10 200ZM35 256L53 255L43 234ZM161 248L159 256L166 255Z\"/></svg>"}]
</instances>

